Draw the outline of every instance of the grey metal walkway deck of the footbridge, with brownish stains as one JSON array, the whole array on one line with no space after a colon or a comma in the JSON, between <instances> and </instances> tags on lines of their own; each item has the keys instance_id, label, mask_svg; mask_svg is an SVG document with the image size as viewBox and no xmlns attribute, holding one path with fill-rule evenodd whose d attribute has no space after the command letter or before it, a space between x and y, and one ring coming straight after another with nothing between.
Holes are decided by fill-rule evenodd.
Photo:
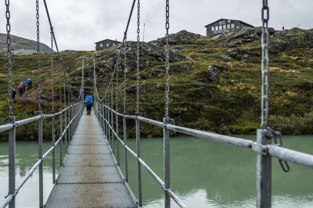
<instances>
[{"instance_id":1,"label":"grey metal walkway deck of the footbridge, with brownish stains","mask_svg":"<svg viewBox=\"0 0 313 208\"><path fill-rule=\"evenodd\" d=\"M94 111L84 112L47 207L137 207Z\"/></svg>"}]
</instances>

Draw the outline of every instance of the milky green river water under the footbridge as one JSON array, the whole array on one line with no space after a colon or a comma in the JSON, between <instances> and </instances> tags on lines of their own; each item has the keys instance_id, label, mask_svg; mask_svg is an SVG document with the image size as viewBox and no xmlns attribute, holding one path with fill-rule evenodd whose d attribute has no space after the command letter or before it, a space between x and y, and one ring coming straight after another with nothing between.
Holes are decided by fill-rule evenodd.
<instances>
[{"instance_id":1,"label":"milky green river water under the footbridge","mask_svg":"<svg viewBox=\"0 0 313 208\"><path fill-rule=\"evenodd\" d=\"M235 135L255 140L252 135ZM283 136L284 147L313 154L313 136ZM136 151L136 139L128 139ZM63 145L64 146L64 145ZM256 154L213 141L189 137L171 137L171 188L190 208L255 207ZM51 141L44 142L44 152ZM116 147L116 146L115 146ZM64 153L63 153L64 156ZM116 150L115 150L116 156ZM60 160L56 148L56 164ZM163 138L141 139L141 157L163 180ZM120 146L120 168L124 174L124 151ZM38 142L16 142L16 183L38 159ZM44 160L44 202L53 187L52 156ZM290 164L282 171L277 159L272 160L272 207L313 207L313 170ZM56 167L56 172L60 166ZM129 186L137 197L137 162L128 153ZM143 207L164 207L164 192L145 168L142 173ZM16 207L38 207L38 169L16 197ZM8 193L8 142L0 142L0 203ZM174 201L172 207L178 207Z\"/></svg>"}]
</instances>

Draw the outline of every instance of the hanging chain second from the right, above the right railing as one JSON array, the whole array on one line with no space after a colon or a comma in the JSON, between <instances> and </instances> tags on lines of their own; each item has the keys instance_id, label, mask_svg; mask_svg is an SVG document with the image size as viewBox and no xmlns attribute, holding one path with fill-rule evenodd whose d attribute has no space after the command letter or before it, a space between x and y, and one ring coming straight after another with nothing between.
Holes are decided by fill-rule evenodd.
<instances>
[{"instance_id":1,"label":"hanging chain second from the right, above the right railing","mask_svg":"<svg viewBox=\"0 0 313 208\"><path fill-rule=\"evenodd\" d=\"M169 101L168 101L168 92L169 92L168 80L170 78L170 76L168 74L168 71L169 71L169 68L170 68L170 64L169 64L169 51L170 51L170 49L169 49L169 45L168 45L168 40L169 40L168 29L170 28L170 23L169 23L169 3L168 3L168 0L166 0L166 23L165 23L165 28L166 28L166 35L165 35L165 39L166 39L166 46L165 46L165 55L166 55L166 58L165 58L165 68L166 68L166 74L165 74L165 82L166 82L166 85L165 85L165 120L167 122L172 121L174 123L174 120L171 119L168 116L168 104L169 104Z\"/></svg>"}]
</instances>

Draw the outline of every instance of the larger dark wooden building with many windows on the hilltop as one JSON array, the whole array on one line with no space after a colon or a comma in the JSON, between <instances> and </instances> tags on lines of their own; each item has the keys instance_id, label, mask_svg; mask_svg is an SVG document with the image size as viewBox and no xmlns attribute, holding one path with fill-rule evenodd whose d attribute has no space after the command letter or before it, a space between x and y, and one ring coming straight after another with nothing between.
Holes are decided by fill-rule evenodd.
<instances>
[{"instance_id":1,"label":"larger dark wooden building with many windows on the hilltop","mask_svg":"<svg viewBox=\"0 0 313 208\"><path fill-rule=\"evenodd\" d=\"M212 22L211 24L204 26L207 28L207 36L211 37L218 35L233 27L254 27L240 20L231 19L230 22L228 22L228 20L229 19L219 19L215 22Z\"/></svg>"}]
</instances>

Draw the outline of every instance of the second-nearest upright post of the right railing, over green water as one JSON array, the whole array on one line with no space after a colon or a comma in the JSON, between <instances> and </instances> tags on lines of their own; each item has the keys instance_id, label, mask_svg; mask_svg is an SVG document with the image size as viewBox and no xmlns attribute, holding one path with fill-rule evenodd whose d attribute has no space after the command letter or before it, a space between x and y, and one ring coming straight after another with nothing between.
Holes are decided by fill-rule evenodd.
<instances>
[{"instance_id":1,"label":"second-nearest upright post of the right railing, over green water","mask_svg":"<svg viewBox=\"0 0 313 208\"><path fill-rule=\"evenodd\" d=\"M166 125L168 122L163 118L163 123ZM163 155L164 155L164 186L165 189L170 188L170 131L163 127ZM164 193L165 208L171 207L171 197Z\"/></svg>"}]
</instances>

